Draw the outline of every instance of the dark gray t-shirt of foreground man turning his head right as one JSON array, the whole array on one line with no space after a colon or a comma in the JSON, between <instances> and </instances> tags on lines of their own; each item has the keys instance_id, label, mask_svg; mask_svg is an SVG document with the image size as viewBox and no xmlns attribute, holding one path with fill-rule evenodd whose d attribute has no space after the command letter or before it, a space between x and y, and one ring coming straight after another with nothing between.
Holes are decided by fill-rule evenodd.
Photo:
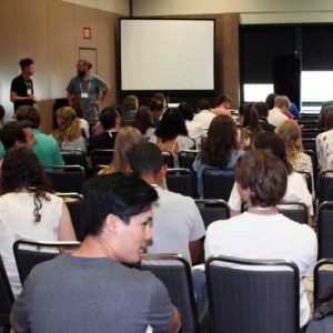
<instances>
[{"instance_id":1,"label":"dark gray t-shirt of foreground man turning his head right","mask_svg":"<svg viewBox=\"0 0 333 333\"><path fill-rule=\"evenodd\" d=\"M39 332L165 331L174 307L150 272L108 258L59 255L37 265L13 305L23 329Z\"/></svg>"}]
</instances>

